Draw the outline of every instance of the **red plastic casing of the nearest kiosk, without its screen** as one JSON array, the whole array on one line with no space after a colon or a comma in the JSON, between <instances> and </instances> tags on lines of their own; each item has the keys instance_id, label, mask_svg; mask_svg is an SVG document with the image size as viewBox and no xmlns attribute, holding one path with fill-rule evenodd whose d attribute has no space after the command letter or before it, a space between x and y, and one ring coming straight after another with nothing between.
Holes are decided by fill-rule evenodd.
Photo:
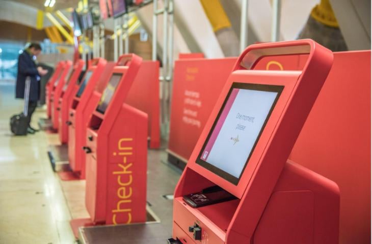
<instances>
[{"instance_id":1,"label":"red plastic casing of the nearest kiosk, without its screen","mask_svg":"<svg viewBox=\"0 0 372 244\"><path fill-rule=\"evenodd\" d=\"M287 54L287 51L306 52L306 49L302 52L300 46L307 46L307 51L310 53L302 72L247 71L243 68L253 68L262 54L280 55ZM253 242L253 238L257 227L260 225L261 217L265 214L267 204L270 203L271 196L276 192L276 189L279 189L278 191L312 191L316 197L314 208L318 209L314 216L313 229L315 231L313 232L313 238L317 241L316 243L338 243L339 192L337 186L332 181L314 172L302 168L297 170L298 167L290 167L288 166L290 163L286 163L307 115L326 80L332 62L332 52L311 40L252 45L243 52L222 89L221 96L216 101L216 106L207 120L176 187L174 193L174 226L178 223L187 222L187 224L178 224L186 232L187 225L199 221L201 225L205 225L204 229L206 229L208 236L209 234L216 234L224 240L224 243L268 243L265 239L262 239L262 242ZM283 84L285 86L237 186L195 163L233 82ZM287 170L288 168L290 170ZM208 181L214 182L239 198L237 207L226 206L230 210L219 209L220 211L235 211L228 228L225 230L222 230L221 227L226 225L221 223L223 223L223 220L226 221L226 218L208 217L208 211L202 213L197 208L184 206L179 202L180 197L192 192L193 188L194 192L198 192L202 187L199 185L207 186ZM317 194L318 192L320 194ZM308 199L307 195L304 197ZM278 202L280 203L280 201ZM303 202L301 200L294 205L296 205L296 208L301 208ZM275 203L276 201L274 201ZM187 209L190 214L182 212L185 211L184 209ZM274 210L274 212L277 211ZM215 212L218 213L219 211ZM291 214L290 211L287 212ZM268 211L268 213L270 223L278 221L271 217L271 212ZM303 216L304 219L309 216L304 211L297 211L297 214ZM266 222L262 222L262 225L266 226ZM325 224L328 224L328 226ZM279 233L280 239L277 239L275 243L298 243L296 242L298 241L296 236L302 235L305 238L311 236L311 233L307 232L309 231L307 225L299 225L297 231L303 231L302 234L292 234L287 229L290 226L296 225L291 222L291 225L280 226L282 229ZM326 230L326 233L316 231L318 229ZM284 241L288 239L289 242ZM202 239L202 242L205 244L212 243L208 242L208 238Z\"/></svg>"}]
</instances>

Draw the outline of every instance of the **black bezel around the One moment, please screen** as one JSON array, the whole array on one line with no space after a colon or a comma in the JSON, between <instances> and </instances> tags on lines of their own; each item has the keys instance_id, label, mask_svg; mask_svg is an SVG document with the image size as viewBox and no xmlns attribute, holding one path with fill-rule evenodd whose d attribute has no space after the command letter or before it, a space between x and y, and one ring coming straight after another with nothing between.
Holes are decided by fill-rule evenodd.
<instances>
[{"instance_id":1,"label":"black bezel around the One moment, please screen","mask_svg":"<svg viewBox=\"0 0 372 244\"><path fill-rule=\"evenodd\" d=\"M266 119L265 119L265 121L264 121L264 123L263 123L263 125L261 127L261 130L260 130L260 132L259 132L259 134L257 136L257 139L256 139L255 143L253 144L252 150L251 150L251 152L250 152L250 154L249 154L249 156L247 158L247 161L246 161L246 163L245 163L245 165L244 165L244 167L242 169L242 172L241 172L241 174L240 174L240 176L238 178L235 177L235 176L233 176L233 175L231 175L231 174L229 174L229 173L227 173L227 172L225 172L224 170L222 170L222 169L220 169L220 168L218 168L218 167L216 167L216 166L214 166L212 164L209 164L208 162L206 162L206 161L204 161L204 160L201 159L202 158L203 151L204 151L204 149L205 149L205 147L206 147L206 145L207 145L207 143L209 141L209 138L210 138L212 132L214 131L214 129L215 129L216 125L217 125L217 121L219 120L219 118L221 116L221 113L222 113L222 111L225 108L225 105L226 105L227 100L229 99L229 97L231 95L231 92L232 92L232 89L233 88L247 89L247 90L260 90L260 91L263 91L263 92L276 92L276 93L278 93L277 96L276 96L276 98L275 98L275 100L274 100L274 102L273 102L273 104L272 104L272 106L271 106L271 109L270 109L270 111L269 111L269 113L268 113L268 115L267 115L267 117L266 117ZM268 122L268 120L269 120L269 118L270 118L270 116L271 116L271 114L272 114L272 112L274 110L274 108L275 108L276 103L278 102L278 99L279 99L281 93L283 92L283 89L284 89L284 86L283 85L268 85L268 84L239 83L239 82L232 83L232 85L230 87L230 90L229 90L229 92L228 92L228 94L227 94L227 96L225 98L225 101L222 104L222 107L221 107L220 111L218 112L218 115L217 115L217 117L216 117L216 119L215 119L215 121L214 121L214 123L213 123L213 125L212 125L212 127L211 127L211 129L209 131L209 133L208 133L208 136L207 136L207 138L205 139L205 141L203 143L203 146L202 146L202 148L200 150L200 153L199 153L199 155L198 155L198 157L196 159L196 163L198 165L202 166L203 168L209 170L210 172L212 172L214 174L217 174L218 176L226 179L227 181L231 182L232 184L234 184L236 186L238 184L238 182L240 181L245 168L248 165L248 161L249 161L249 159L252 156L252 153L253 153L253 151L254 151L254 149L256 147L256 144L257 144L259 138L261 137L261 134L262 134L262 132L263 132L263 130L264 130L264 128L265 128L265 126L266 126L266 124L267 124L267 122Z\"/></svg>"}]
</instances>

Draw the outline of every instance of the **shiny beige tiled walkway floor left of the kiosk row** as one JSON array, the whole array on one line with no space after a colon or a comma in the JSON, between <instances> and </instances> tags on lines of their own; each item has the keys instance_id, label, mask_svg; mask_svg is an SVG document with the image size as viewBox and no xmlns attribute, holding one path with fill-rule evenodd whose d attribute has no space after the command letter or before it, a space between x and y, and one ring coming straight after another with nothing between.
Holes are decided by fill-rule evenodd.
<instances>
[{"instance_id":1,"label":"shiny beige tiled walkway floor left of the kiosk row","mask_svg":"<svg viewBox=\"0 0 372 244\"><path fill-rule=\"evenodd\" d=\"M75 209L70 212L46 154L54 135L12 136L9 118L21 110L14 85L0 83L0 243L73 243ZM35 112L35 127L44 114Z\"/></svg>"}]
</instances>

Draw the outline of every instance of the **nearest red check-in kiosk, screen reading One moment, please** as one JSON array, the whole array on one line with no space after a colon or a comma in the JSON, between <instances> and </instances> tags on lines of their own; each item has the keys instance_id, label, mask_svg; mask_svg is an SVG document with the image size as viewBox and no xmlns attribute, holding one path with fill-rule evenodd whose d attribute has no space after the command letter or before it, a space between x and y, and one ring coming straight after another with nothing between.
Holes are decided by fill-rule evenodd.
<instances>
[{"instance_id":1,"label":"nearest red check-in kiosk, screen reading One moment, please","mask_svg":"<svg viewBox=\"0 0 372 244\"><path fill-rule=\"evenodd\" d=\"M302 53L302 71L251 70ZM175 189L168 243L338 243L337 185L287 160L332 63L312 40L241 54Z\"/></svg>"}]
</instances>

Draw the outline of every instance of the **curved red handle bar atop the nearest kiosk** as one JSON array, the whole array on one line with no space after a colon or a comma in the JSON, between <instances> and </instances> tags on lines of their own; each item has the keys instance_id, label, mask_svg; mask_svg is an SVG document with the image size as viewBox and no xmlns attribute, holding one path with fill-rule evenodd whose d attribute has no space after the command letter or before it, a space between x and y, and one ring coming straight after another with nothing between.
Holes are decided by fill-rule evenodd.
<instances>
[{"instance_id":1,"label":"curved red handle bar atop the nearest kiosk","mask_svg":"<svg viewBox=\"0 0 372 244\"><path fill-rule=\"evenodd\" d=\"M252 70L258 61L265 56L309 54L302 75L312 70L314 66L321 70L330 70L333 63L333 53L311 39L296 41L272 42L248 46L238 57L233 71ZM322 64L320 66L319 64Z\"/></svg>"}]
</instances>

